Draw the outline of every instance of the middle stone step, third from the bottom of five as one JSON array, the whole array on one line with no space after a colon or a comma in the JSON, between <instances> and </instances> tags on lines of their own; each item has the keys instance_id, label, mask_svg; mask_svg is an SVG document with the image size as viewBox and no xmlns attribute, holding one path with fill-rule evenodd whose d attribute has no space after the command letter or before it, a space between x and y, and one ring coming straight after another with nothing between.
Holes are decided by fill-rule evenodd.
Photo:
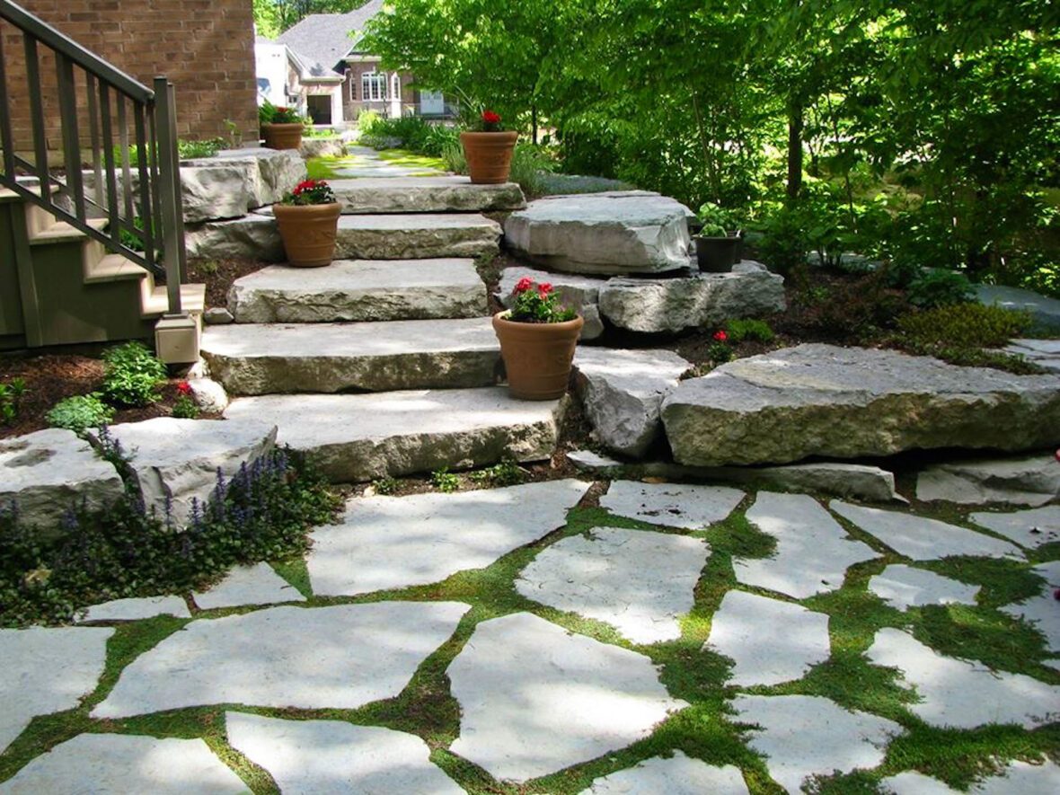
<instances>
[{"instance_id":1,"label":"middle stone step, third from the bottom of five","mask_svg":"<svg viewBox=\"0 0 1060 795\"><path fill-rule=\"evenodd\" d=\"M235 281L228 311L237 323L320 323L470 318L488 310L474 261L441 259L270 265Z\"/></svg>"}]
</instances>

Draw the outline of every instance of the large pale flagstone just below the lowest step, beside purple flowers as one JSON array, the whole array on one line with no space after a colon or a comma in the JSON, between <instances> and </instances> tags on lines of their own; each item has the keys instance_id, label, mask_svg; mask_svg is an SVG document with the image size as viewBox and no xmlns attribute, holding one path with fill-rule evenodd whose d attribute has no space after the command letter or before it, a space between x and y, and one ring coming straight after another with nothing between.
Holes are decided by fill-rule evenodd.
<instances>
[{"instance_id":1,"label":"large pale flagstone just below the lowest step, beside purple flowers","mask_svg":"<svg viewBox=\"0 0 1060 795\"><path fill-rule=\"evenodd\" d=\"M354 596L483 568L562 527L567 510L588 488L581 480L552 480L461 494L351 499L341 525L312 533L306 567L313 593Z\"/></svg>"}]
</instances>

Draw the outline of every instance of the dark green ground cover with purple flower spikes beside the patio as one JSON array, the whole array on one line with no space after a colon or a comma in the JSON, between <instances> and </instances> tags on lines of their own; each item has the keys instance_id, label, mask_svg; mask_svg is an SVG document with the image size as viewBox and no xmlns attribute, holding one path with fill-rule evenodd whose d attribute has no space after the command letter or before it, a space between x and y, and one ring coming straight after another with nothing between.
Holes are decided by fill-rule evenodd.
<instances>
[{"instance_id":1,"label":"dark green ground cover with purple flower spikes beside the patio","mask_svg":"<svg viewBox=\"0 0 1060 795\"><path fill-rule=\"evenodd\" d=\"M121 459L120 449L111 455ZM334 496L302 458L276 449L196 505L190 526L144 510L135 489L98 513L72 506L59 541L0 508L0 625L69 621L83 605L108 599L183 593L240 563L301 555L307 531L332 518Z\"/></svg>"}]
</instances>

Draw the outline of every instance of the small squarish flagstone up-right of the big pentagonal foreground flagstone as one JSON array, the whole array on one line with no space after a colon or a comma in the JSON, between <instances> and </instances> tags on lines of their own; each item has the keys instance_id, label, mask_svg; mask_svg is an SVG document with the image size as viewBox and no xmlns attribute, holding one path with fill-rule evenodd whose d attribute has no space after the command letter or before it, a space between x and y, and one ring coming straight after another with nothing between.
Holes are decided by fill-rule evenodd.
<instances>
[{"instance_id":1,"label":"small squarish flagstone up-right of the big pentagonal foreground flagstone","mask_svg":"<svg viewBox=\"0 0 1060 795\"><path fill-rule=\"evenodd\" d=\"M828 616L730 590L711 619L707 647L732 658L729 683L738 687L800 679L831 654Z\"/></svg>"}]
</instances>

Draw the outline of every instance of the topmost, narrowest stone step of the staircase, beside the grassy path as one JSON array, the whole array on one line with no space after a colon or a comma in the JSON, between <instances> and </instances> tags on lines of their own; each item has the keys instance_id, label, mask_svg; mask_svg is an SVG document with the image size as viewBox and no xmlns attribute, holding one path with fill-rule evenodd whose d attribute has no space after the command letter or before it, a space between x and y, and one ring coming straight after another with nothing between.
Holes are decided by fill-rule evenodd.
<instances>
[{"instance_id":1,"label":"topmost, narrowest stone step of the staircase, beside the grassy path","mask_svg":"<svg viewBox=\"0 0 1060 795\"><path fill-rule=\"evenodd\" d=\"M367 177L328 182L346 214L497 212L526 207L514 182L472 184L469 177Z\"/></svg>"}]
</instances>

